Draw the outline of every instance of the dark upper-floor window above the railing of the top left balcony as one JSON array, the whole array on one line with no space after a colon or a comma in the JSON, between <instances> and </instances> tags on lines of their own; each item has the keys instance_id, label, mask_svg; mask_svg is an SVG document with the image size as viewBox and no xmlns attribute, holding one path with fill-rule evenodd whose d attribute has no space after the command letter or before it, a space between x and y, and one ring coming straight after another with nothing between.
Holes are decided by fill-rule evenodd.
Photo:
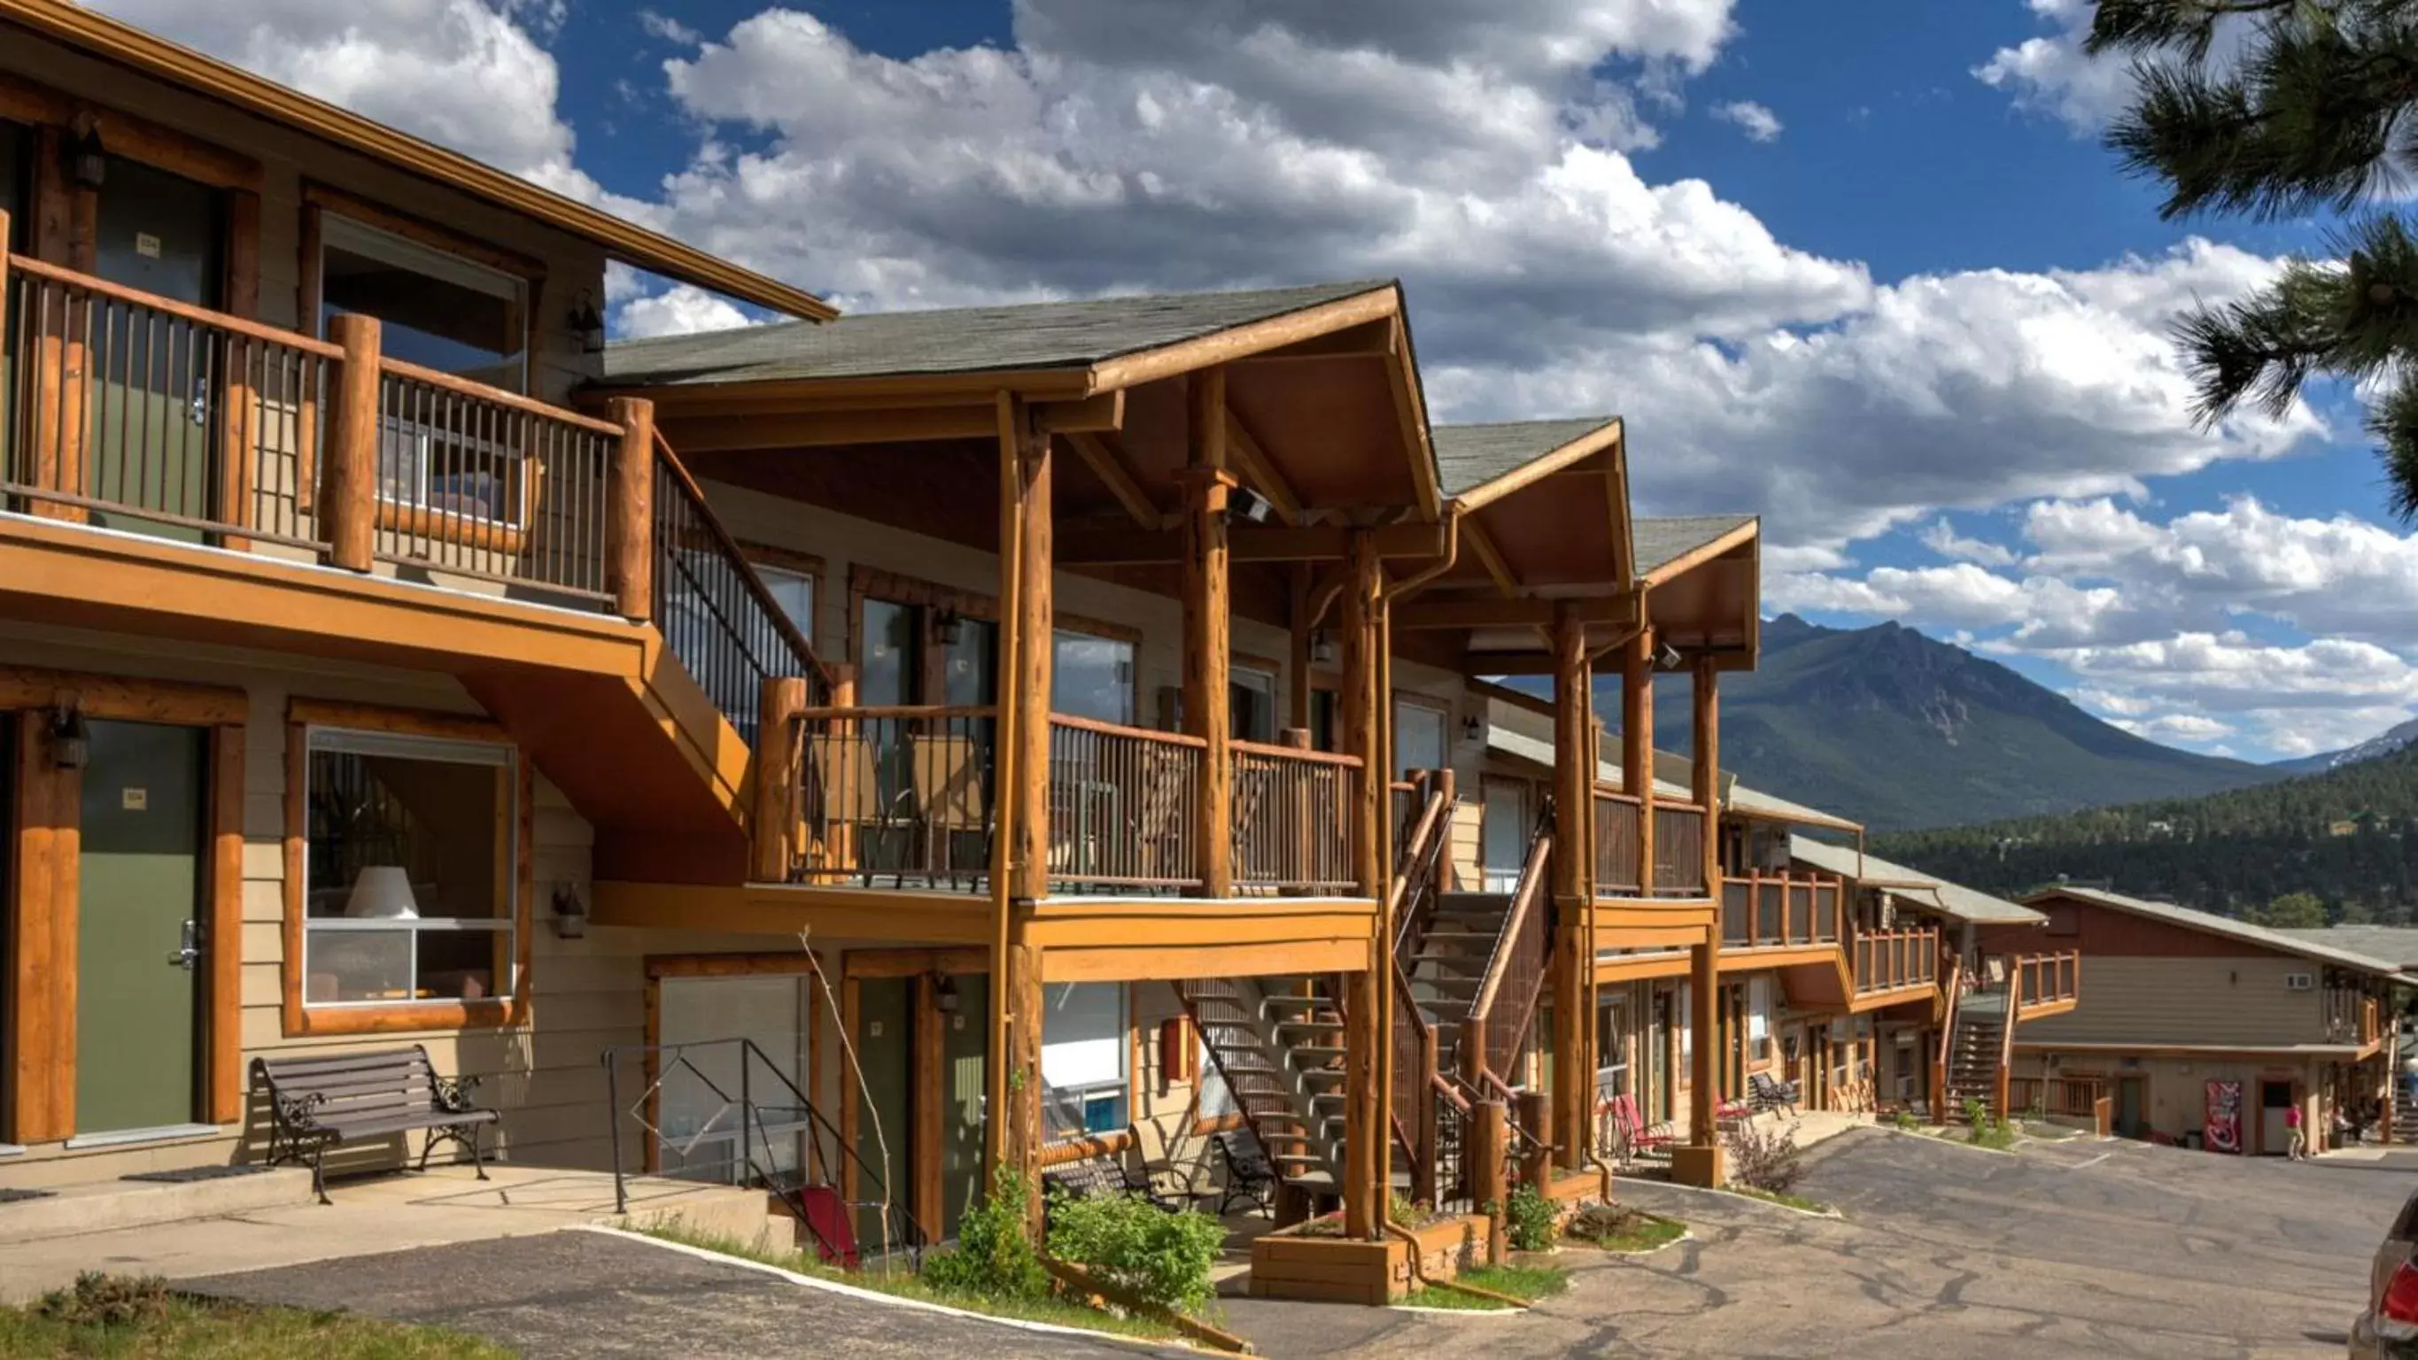
<instances>
[{"instance_id":1,"label":"dark upper-floor window above the railing of the top left balcony","mask_svg":"<svg viewBox=\"0 0 2418 1360\"><path fill-rule=\"evenodd\" d=\"M527 391L527 292L498 268L336 213L319 217L322 336L341 312L377 316L387 358Z\"/></svg>"}]
</instances>

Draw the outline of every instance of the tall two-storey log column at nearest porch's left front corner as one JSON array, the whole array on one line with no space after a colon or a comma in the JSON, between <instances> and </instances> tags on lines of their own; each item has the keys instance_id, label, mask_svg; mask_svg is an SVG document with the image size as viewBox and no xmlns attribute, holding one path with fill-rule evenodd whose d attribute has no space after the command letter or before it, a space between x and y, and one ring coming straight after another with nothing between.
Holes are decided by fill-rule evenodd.
<instances>
[{"instance_id":1,"label":"tall two-storey log column at nearest porch's left front corner","mask_svg":"<svg viewBox=\"0 0 2418 1360\"><path fill-rule=\"evenodd\" d=\"M1032 411L999 399L999 795L991 850L991 1044L984 1140L994 1167L1025 1179L1040 1232L1042 952L1032 903L1049 896L1052 519L1049 437Z\"/></svg>"}]
</instances>

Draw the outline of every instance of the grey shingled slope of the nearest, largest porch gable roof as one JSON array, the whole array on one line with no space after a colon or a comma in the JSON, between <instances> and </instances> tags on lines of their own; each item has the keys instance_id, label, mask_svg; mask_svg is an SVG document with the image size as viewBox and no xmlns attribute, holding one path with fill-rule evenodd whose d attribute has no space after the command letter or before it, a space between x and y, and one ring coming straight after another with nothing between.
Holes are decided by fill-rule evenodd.
<instances>
[{"instance_id":1,"label":"grey shingled slope of the nearest, largest porch gable roof","mask_svg":"<svg viewBox=\"0 0 2418 1360\"><path fill-rule=\"evenodd\" d=\"M604 382L708 384L1088 367L1381 287L1393 283L861 312L822 326L788 321L624 341L604 348Z\"/></svg>"}]
</instances>

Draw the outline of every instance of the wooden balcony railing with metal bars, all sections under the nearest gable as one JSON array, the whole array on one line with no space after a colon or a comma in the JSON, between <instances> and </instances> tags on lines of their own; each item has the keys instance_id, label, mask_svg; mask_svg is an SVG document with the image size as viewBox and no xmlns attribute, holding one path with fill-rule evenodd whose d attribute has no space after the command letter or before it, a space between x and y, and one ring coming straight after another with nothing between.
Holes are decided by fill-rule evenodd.
<instances>
[{"instance_id":1,"label":"wooden balcony railing with metal bars, all sections under the nearest gable","mask_svg":"<svg viewBox=\"0 0 2418 1360\"><path fill-rule=\"evenodd\" d=\"M786 882L989 891L996 708L822 705L764 722L796 732ZM1361 761L1260 742L1224 756L1236 896L1349 896ZM1199 737L1052 715L1052 896L1204 896L1209 759Z\"/></svg>"}]
</instances>

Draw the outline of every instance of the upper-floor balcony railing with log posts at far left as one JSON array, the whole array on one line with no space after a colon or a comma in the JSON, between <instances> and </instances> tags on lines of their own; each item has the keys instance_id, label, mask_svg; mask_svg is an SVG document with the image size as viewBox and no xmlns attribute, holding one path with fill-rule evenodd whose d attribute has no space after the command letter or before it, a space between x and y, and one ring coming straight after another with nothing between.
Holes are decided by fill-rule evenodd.
<instances>
[{"instance_id":1,"label":"upper-floor balcony railing with log posts at far left","mask_svg":"<svg viewBox=\"0 0 2418 1360\"><path fill-rule=\"evenodd\" d=\"M382 358L365 316L322 341L27 256L0 273L5 507L646 614L626 425Z\"/></svg>"}]
</instances>

